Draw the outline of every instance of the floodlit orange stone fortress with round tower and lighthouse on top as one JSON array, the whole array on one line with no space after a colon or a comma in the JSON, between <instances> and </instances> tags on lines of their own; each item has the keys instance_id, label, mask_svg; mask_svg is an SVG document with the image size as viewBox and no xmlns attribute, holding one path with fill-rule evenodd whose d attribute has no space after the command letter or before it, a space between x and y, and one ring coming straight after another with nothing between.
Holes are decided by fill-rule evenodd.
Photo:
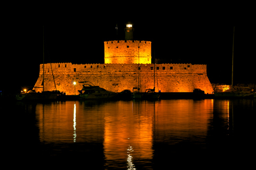
<instances>
[{"instance_id":1,"label":"floodlit orange stone fortress with round tower and lighthouse on top","mask_svg":"<svg viewBox=\"0 0 256 170\"><path fill-rule=\"evenodd\" d=\"M151 64L151 42L133 40L132 24L126 25L125 40L105 41L104 47L105 64L41 64L34 90L42 91L44 77L45 91L59 90L67 95L78 95L82 82L114 92L145 92L154 87L161 92L213 92L206 65Z\"/></svg>"}]
</instances>

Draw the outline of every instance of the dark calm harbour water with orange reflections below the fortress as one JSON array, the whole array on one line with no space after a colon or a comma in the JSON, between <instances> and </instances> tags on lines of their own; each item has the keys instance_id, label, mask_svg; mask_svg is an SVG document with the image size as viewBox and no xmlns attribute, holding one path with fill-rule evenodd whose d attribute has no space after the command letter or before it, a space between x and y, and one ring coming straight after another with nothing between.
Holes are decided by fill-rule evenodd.
<instances>
[{"instance_id":1,"label":"dark calm harbour water with orange reflections below the fortress","mask_svg":"<svg viewBox=\"0 0 256 170\"><path fill-rule=\"evenodd\" d=\"M250 99L2 102L3 148L11 166L34 169L247 166L255 107Z\"/></svg>"}]
</instances>

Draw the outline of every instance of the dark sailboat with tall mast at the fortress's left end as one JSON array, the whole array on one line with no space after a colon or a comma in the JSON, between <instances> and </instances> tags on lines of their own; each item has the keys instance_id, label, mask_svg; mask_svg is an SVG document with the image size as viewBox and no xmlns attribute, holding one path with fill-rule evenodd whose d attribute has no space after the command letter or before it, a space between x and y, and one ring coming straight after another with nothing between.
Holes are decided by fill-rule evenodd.
<instances>
[{"instance_id":1,"label":"dark sailboat with tall mast at the fortress's left end","mask_svg":"<svg viewBox=\"0 0 256 170\"><path fill-rule=\"evenodd\" d=\"M53 76L53 73L52 73ZM53 76L54 81L54 76ZM53 91L44 91L44 29L43 29L43 87L34 87L34 88L43 88L42 92L36 92L35 90L29 90L28 92L22 91L20 94L15 96L16 100L53 100L57 99L58 94L60 94L60 91L53 90ZM54 82L55 84L55 82Z\"/></svg>"}]
</instances>

